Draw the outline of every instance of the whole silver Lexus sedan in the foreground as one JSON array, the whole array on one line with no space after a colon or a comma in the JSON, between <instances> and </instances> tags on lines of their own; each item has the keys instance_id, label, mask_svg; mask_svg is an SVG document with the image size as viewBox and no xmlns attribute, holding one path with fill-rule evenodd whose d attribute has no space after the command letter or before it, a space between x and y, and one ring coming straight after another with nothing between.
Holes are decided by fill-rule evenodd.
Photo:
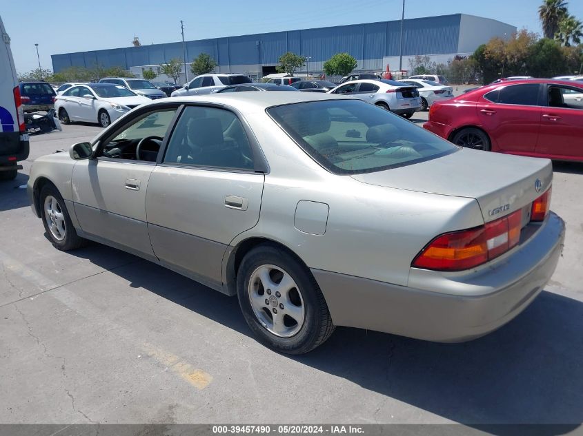
<instances>
[{"instance_id":1,"label":"whole silver Lexus sedan in the foreground","mask_svg":"<svg viewBox=\"0 0 583 436\"><path fill-rule=\"evenodd\" d=\"M37 159L28 194L57 249L237 295L258 340L299 354L335 326L455 342L513 319L562 251L552 178L354 98L240 92L137 107Z\"/></svg>"}]
</instances>

